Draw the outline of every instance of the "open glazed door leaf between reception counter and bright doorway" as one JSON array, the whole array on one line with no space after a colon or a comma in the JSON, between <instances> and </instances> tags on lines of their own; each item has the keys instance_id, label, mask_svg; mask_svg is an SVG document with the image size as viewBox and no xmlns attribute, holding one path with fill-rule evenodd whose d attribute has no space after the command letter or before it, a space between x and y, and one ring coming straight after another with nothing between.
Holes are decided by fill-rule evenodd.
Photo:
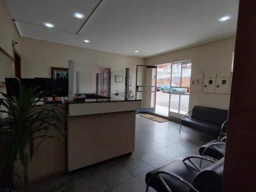
<instances>
[{"instance_id":1,"label":"open glazed door leaf between reception counter and bright doorway","mask_svg":"<svg viewBox=\"0 0 256 192\"><path fill-rule=\"evenodd\" d=\"M142 100L138 112L156 111L157 66L137 66L136 99Z\"/></svg>"}]
</instances>

